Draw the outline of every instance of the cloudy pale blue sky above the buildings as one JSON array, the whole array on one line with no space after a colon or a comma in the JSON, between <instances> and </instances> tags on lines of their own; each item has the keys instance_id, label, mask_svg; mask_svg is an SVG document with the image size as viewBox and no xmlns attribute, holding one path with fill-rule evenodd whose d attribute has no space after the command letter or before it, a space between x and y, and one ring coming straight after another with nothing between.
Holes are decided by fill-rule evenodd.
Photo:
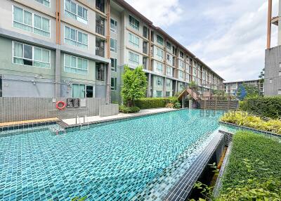
<instances>
[{"instance_id":1,"label":"cloudy pale blue sky above the buildings","mask_svg":"<svg viewBox=\"0 0 281 201\"><path fill-rule=\"evenodd\" d=\"M268 0L126 0L226 82L258 79L264 67ZM273 0L273 16L277 0ZM271 46L277 46L273 25Z\"/></svg>"}]
</instances>

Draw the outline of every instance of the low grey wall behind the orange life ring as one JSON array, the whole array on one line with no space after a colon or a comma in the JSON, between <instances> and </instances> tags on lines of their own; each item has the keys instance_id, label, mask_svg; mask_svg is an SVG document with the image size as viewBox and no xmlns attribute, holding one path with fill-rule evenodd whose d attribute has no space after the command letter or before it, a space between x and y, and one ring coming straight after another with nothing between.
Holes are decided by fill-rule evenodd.
<instances>
[{"instance_id":1,"label":"low grey wall behind the orange life ring","mask_svg":"<svg viewBox=\"0 0 281 201\"><path fill-rule=\"evenodd\" d=\"M66 98L0 98L0 122L58 117L59 119L99 115L105 98L86 98L86 107L58 110L55 103ZM81 100L81 99L80 99Z\"/></svg>"}]
</instances>

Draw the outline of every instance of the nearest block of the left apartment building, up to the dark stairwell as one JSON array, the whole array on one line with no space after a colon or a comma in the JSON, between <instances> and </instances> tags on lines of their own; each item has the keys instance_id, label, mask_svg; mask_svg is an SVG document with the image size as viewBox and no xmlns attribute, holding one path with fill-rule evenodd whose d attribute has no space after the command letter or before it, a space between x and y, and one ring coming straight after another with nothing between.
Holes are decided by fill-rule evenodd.
<instances>
[{"instance_id":1,"label":"nearest block of the left apartment building, up to the dark stairwell","mask_svg":"<svg viewBox=\"0 0 281 201\"><path fill-rule=\"evenodd\" d=\"M0 95L105 98L106 9L98 0L1 1Z\"/></svg>"}]
</instances>

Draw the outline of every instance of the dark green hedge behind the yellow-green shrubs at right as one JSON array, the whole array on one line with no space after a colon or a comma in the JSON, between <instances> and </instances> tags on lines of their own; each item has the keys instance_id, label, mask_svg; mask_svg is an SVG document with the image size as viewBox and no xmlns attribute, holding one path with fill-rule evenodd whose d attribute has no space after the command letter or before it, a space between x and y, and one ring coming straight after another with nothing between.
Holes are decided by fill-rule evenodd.
<instances>
[{"instance_id":1,"label":"dark green hedge behind the yellow-green shrubs at right","mask_svg":"<svg viewBox=\"0 0 281 201\"><path fill-rule=\"evenodd\" d=\"M261 117L281 118L281 96L249 98L240 103L240 110Z\"/></svg>"}]
</instances>

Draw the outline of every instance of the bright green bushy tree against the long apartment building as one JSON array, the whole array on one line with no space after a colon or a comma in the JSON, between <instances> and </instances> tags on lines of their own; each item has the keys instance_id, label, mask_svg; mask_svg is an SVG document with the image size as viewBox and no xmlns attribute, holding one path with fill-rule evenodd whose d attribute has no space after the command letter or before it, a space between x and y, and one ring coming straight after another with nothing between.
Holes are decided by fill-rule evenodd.
<instances>
[{"instance_id":1,"label":"bright green bushy tree against the long apartment building","mask_svg":"<svg viewBox=\"0 0 281 201\"><path fill-rule=\"evenodd\" d=\"M145 96L148 82L142 66L138 66L134 70L127 65L124 68L124 73L122 74L124 84L121 89L121 96L124 103L131 106L134 100Z\"/></svg>"}]
</instances>

